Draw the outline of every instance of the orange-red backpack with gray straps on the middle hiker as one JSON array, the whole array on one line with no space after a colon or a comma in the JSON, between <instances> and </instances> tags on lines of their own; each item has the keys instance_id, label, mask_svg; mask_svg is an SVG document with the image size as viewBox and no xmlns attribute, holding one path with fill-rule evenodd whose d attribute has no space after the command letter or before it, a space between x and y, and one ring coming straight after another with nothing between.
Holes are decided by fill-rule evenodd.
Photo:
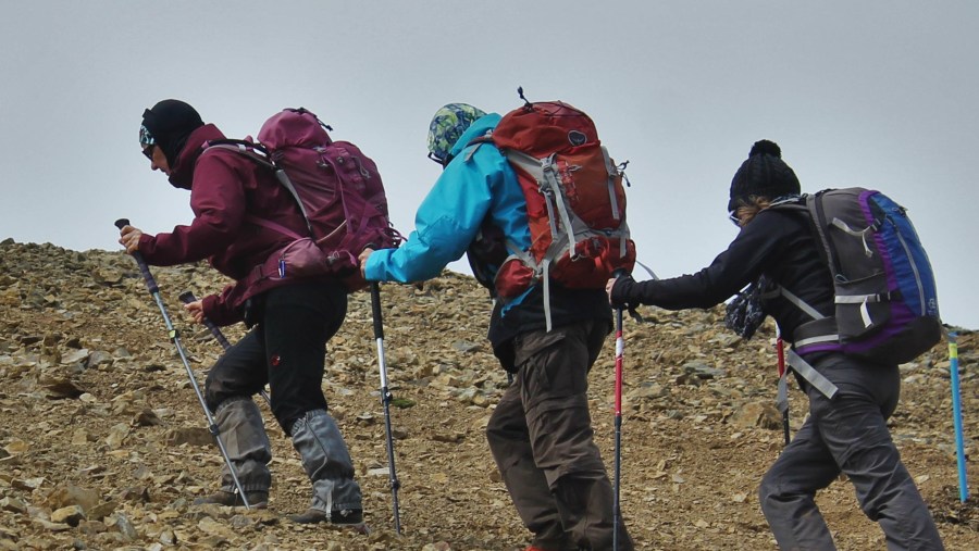
<instances>
[{"instance_id":1,"label":"orange-red backpack with gray straps on the middle hiker","mask_svg":"<svg viewBox=\"0 0 979 551\"><path fill-rule=\"evenodd\" d=\"M552 281L604 289L612 273L632 272L624 164L608 155L588 115L560 101L526 102L507 113L488 141L517 173L531 233L530 249L500 266L496 292L506 301L543 283L549 330Z\"/></svg>"}]
</instances>

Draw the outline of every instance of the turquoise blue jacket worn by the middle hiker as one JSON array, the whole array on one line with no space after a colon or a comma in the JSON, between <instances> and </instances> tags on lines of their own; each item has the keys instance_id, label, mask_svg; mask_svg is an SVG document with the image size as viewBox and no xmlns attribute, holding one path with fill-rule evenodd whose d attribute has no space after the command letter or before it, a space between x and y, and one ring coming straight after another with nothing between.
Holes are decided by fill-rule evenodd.
<instances>
[{"instance_id":1,"label":"turquoise blue jacket worn by the middle hiker","mask_svg":"<svg viewBox=\"0 0 979 551\"><path fill-rule=\"evenodd\" d=\"M451 150L455 159L418 209L414 231L398 249L372 253L367 279L411 283L437 276L462 258L487 214L508 241L521 250L530 247L526 201L513 168L495 147L469 146L499 120L496 113L482 116L462 134Z\"/></svg>"}]
</instances>

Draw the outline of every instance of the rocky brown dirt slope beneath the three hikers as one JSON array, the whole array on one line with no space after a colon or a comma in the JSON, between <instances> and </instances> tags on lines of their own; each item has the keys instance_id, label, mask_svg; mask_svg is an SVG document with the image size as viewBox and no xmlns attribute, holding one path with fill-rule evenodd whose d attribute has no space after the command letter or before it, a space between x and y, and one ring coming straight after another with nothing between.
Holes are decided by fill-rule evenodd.
<instances>
[{"instance_id":1,"label":"rocky brown dirt slope beneath the three hikers","mask_svg":"<svg viewBox=\"0 0 979 551\"><path fill-rule=\"evenodd\" d=\"M221 352L177 296L220 289L203 266L154 268L202 385ZM370 298L350 298L323 388L363 488L370 535L282 519L305 510L298 455L260 402L274 448L270 508L191 506L221 456L160 311L131 258L0 243L0 549L512 550L530 542L483 429L507 385L485 341L490 303L466 276L382 288L401 534L393 526ZM748 342L721 310L642 311L625 322L621 506L640 549L776 549L756 489L782 448L771 412L770 325ZM228 327L235 340L241 328ZM967 456L979 434L977 336L961 330ZM611 473L614 340L591 376L597 440ZM943 342L902 366L891 427L952 550L979 549L977 500L958 499L950 363ZM793 388L791 421L805 417ZM979 469L968 463L975 486ZM852 486L819 505L841 550L884 549Z\"/></svg>"}]
</instances>

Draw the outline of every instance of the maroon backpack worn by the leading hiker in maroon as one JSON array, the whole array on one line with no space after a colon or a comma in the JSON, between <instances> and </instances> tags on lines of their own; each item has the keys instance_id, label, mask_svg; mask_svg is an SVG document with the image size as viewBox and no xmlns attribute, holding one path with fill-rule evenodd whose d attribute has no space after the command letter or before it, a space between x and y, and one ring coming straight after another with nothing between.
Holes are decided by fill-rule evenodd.
<instances>
[{"instance_id":1,"label":"maroon backpack worn by the leading hiker in maroon","mask_svg":"<svg viewBox=\"0 0 979 551\"><path fill-rule=\"evenodd\" d=\"M292 237L257 270L259 277L330 274L349 291L367 286L358 256L367 248L397 247L401 236L387 214L387 198L377 166L347 141L333 141L330 128L306 109L285 109L262 125L258 141L219 140L210 147L233 149L274 171L296 199L308 236L272 220L247 220Z\"/></svg>"}]
</instances>

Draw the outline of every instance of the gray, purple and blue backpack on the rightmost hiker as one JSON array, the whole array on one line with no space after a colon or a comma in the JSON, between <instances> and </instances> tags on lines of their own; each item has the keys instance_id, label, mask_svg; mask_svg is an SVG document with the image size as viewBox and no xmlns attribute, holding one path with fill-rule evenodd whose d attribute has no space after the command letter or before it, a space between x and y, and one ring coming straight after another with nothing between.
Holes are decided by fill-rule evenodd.
<instances>
[{"instance_id":1,"label":"gray, purple and blue backpack on the rightmost hiker","mask_svg":"<svg viewBox=\"0 0 979 551\"><path fill-rule=\"evenodd\" d=\"M846 188L776 208L808 213L833 277L835 312L829 317L781 289L813 317L795 331L796 352L840 350L900 364L941 340L934 274L903 206L880 191Z\"/></svg>"}]
</instances>

